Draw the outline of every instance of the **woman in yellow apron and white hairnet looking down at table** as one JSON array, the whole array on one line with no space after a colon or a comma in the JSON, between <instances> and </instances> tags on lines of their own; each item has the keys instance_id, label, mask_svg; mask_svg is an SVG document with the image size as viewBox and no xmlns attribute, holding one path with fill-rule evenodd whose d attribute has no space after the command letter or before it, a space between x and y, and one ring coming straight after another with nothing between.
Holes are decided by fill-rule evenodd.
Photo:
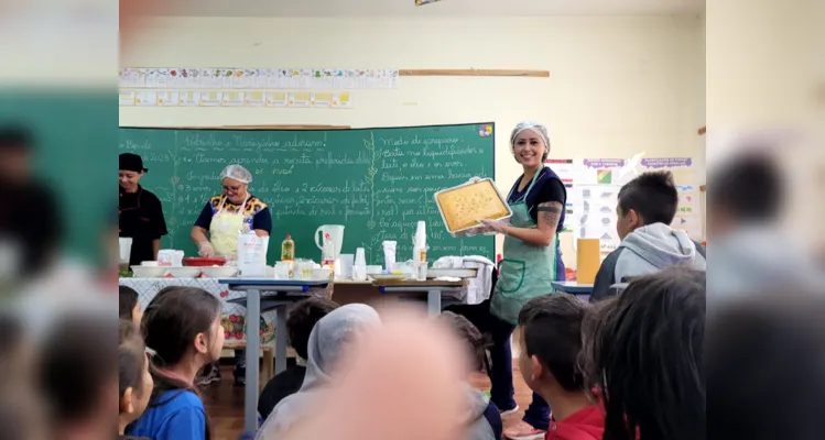
<instances>
[{"instance_id":1,"label":"woman in yellow apron and white hairnet looking down at table","mask_svg":"<svg viewBox=\"0 0 825 440\"><path fill-rule=\"evenodd\" d=\"M272 232L272 215L262 200L249 193L252 174L240 165L229 165L220 173L222 193L210 198L192 227L192 241L200 256L224 256L235 261L238 255L238 231L254 231L259 237ZM209 233L209 239L206 233ZM245 384L246 356L235 352L235 383ZM207 367L200 377L202 385L220 380L220 370Z\"/></svg>"}]
</instances>

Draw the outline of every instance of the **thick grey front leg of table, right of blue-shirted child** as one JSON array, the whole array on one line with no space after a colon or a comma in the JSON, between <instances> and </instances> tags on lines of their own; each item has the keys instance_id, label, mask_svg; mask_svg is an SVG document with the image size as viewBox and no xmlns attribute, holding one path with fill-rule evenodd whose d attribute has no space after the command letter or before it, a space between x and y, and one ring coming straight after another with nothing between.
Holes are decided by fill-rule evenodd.
<instances>
[{"instance_id":1,"label":"thick grey front leg of table, right of blue-shirted child","mask_svg":"<svg viewBox=\"0 0 825 440\"><path fill-rule=\"evenodd\" d=\"M243 391L243 430L258 430L258 361L261 354L261 292L247 290L247 385Z\"/></svg>"}]
</instances>

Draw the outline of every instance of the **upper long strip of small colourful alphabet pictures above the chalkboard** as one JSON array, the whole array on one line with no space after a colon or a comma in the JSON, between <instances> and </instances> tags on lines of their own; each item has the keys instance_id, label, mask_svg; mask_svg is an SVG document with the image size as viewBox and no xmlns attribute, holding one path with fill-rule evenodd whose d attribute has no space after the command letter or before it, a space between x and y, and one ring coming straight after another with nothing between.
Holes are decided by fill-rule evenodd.
<instances>
[{"instance_id":1,"label":"upper long strip of small colourful alphabet pictures above the chalkboard","mask_svg":"<svg viewBox=\"0 0 825 440\"><path fill-rule=\"evenodd\" d=\"M176 89L394 89L399 69L124 67L119 87Z\"/></svg>"}]
</instances>

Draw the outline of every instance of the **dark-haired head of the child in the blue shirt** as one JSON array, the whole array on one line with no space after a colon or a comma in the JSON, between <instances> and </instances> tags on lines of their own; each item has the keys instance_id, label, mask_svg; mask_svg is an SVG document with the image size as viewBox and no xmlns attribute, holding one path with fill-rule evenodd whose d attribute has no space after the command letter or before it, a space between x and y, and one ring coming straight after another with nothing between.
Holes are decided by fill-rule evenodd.
<instances>
[{"instance_id":1,"label":"dark-haired head of the child in the blue shirt","mask_svg":"<svg viewBox=\"0 0 825 440\"><path fill-rule=\"evenodd\" d=\"M182 361L202 367L220 358L222 306L213 294L197 287L166 287L149 302L143 315L146 346L152 363L170 369Z\"/></svg>"}]
</instances>

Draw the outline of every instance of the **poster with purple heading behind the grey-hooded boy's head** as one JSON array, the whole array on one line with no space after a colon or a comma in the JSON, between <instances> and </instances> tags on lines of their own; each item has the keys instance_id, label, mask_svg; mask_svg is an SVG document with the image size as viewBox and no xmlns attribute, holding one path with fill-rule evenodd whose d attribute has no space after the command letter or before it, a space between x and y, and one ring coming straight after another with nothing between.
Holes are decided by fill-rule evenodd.
<instances>
[{"instance_id":1,"label":"poster with purple heading behind the grey-hooded boy's head","mask_svg":"<svg viewBox=\"0 0 825 440\"><path fill-rule=\"evenodd\" d=\"M699 175L691 157L643 158L639 172L669 170L679 191L679 210L671 224L696 241L703 241Z\"/></svg>"}]
</instances>

